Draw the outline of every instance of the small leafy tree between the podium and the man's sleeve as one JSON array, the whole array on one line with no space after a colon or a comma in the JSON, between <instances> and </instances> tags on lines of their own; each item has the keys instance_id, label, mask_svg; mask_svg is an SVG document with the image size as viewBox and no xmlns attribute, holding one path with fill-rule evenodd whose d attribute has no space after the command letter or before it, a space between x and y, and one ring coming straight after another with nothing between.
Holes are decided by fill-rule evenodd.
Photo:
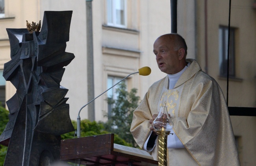
<instances>
[{"instance_id":1,"label":"small leafy tree between the podium and the man's sleeve","mask_svg":"<svg viewBox=\"0 0 256 166\"><path fill-rule=\"evenodd\" d=\"M108 132L118 134L124 141L132 144L133 147L137 147L130 133L133 112L139 103L139 96L136 96L137 89L133 88L130 92L127 92L126 85L121 83L116 93L118 94L116 100L108 99L108 103L113 105L112 116L108 117L108 122L102 123L102 125Z\"/></svg>"}]
</instances>

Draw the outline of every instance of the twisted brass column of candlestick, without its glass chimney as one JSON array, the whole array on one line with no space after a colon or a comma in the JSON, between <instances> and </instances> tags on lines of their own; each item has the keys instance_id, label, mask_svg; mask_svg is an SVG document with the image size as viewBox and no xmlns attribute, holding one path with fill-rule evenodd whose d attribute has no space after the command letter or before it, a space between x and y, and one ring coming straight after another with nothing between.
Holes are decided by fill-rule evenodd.
<instances>
[{"instance_id":1,"label":"twisted brass column of candlestick, without its glass chimney","mask_svg":"<svg viewBox=\"0 0 256 166\"><path fill-rule=\"evenodd\" d=\"M158 130L158 166L167 166L167 136L170 131Z\"/></svg>"}]
</instances>

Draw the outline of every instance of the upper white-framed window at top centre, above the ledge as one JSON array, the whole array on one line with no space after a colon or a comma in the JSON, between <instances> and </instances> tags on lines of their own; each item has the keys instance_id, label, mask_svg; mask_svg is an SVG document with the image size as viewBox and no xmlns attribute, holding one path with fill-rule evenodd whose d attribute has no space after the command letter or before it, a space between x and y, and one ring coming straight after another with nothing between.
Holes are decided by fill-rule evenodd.
<instances>
[{"instance_id":1,"label":"upper white-framed window at top centre, above the ledge","mask_svg":"<svg viewBox=\"0 0 256 166\"><path fill-rule=\"evenodd\" d=\"M126 0L107 0L108 25L126 27Z\"/></svg>"}]
</instances>

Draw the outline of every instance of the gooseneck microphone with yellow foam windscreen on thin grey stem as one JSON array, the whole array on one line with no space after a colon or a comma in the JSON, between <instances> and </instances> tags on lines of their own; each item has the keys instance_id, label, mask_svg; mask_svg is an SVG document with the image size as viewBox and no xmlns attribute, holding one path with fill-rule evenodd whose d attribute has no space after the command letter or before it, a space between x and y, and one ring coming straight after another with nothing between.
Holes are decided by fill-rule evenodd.
<instances>
[{"instance_id":1,"label":"gooseneck microphone with yellow foam windscreen on thin grey stem","mask_svg":"<svg viewBox=\"0 0 256 166\"><path fill-rule=\"evenodd\" d=\"M151 73L151 69L150 67L142 67L139 69L138 72L134 72L132 74L136 74L136 73L139 73L139 75L141 76L148 76L150 73ZM132 74L129 74L128 76L126 76L125 78L123 78L121 81L123 81L124 79L128 78L130 75ZM108 88L107 90L105 90L102 94L106 93L109 89L115 87L117 84L119 84L121 81L119 81L118 83L116 83L115 85L113 85L112 87ZM81 128L80 128L80 123L81 123L81 118L80 118L80 112L81 110L87 106L88 104L90 104L91 102L93 102L96 98L100 97L102 94L100 94L99 96L95 97L94 99L92 99L89 103L87 103L86 105L82 106L82 108L80 108L79 112L78 112L78 116L77 116L77 137L80 138L81 136Z\"/></svg>"}]
</instances>

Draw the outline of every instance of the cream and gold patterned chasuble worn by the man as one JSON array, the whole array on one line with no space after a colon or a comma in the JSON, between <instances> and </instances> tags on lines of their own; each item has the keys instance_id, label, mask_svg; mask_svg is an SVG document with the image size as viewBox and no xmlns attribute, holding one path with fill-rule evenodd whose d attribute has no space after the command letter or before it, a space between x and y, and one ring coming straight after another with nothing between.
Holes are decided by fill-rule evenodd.
<instances>
[{"instance_id":1,"label":"cream and gold patterned chasuble worn by the man","mask_svg":"<svg viewBox=\"0 0 256 166\"><path fill-rule=\"evenodd\" d=\"M149 120L158 114L160 106L167 106L174 123L173 131L185 146L168 149L170 166L239 166L223 92L215 79L201 70L197 61L187 59L187 62L189 67L173 89L168 89L168 76L148 89L134 111L130 131L143 149L151 133ZM150 153L157 160L158 146Z\"/></svg>"}]
</instances>

